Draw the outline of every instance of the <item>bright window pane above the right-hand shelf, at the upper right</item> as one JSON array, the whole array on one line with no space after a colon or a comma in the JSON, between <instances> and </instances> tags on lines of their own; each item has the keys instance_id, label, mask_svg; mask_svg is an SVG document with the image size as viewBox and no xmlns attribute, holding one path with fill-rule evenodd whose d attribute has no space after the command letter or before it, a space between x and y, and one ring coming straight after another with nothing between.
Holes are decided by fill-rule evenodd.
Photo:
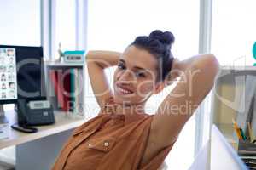
<instances>
[{"instance_id":1,"label":"bright window pane above the right-hand shelf, at the upper right","mask_svg":"<svg viewBox=\"0 0 256 170\"><path fill-rule=\"evenodd\" d=\"M212 54L221 65L253 65L256 1L215 0L212 5Z\"/></svg>"}]
</instances>

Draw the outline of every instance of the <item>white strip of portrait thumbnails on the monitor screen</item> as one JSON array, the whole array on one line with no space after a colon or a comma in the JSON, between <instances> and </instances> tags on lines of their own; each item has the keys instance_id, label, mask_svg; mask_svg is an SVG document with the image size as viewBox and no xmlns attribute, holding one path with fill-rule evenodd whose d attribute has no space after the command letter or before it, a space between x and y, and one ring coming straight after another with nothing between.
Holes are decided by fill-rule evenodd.
<instances>
[{"instance_id":1,"label":"white strip of portrait thumbnails on the monitor screen","mask_svg":"<svg viewBox=\"0 0 256 170\"><path fill-rule=\"evenodd\" d=\"M0 102L13 103L17 99L15 48L0 48Z\"/></svg>"}]
</instances>

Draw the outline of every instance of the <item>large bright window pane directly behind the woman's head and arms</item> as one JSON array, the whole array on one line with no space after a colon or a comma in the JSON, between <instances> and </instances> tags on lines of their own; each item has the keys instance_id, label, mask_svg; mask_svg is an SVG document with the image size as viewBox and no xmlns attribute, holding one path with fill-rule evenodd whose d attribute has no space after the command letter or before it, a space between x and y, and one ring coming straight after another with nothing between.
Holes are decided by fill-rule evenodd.
<instances>
[{"instance_id":1,"label":"large bright window pane directly behind the woman's head and arms","mask_svg":"<svg viewBox=\"0 0 256 170\"><path fill-rule=\"evenodd\" d=\"M148 35L151 31L160 29L172 31L176 37L172 54L179 59L188 58L198 54L199 7L199 0L89 1L88 49L122 52L138 35ZM111 80L113 70L108 70L108 74L109 82L113 84ZM153 106L155 110L155 102L164 99L168 91L170 89L150 99L148 107ZM92 92L90 90L86 93ZM183 128L177 143L166 159L170 168L188 169L194 157L194 139L193 117Z\"/></svg>"}]
</instances>

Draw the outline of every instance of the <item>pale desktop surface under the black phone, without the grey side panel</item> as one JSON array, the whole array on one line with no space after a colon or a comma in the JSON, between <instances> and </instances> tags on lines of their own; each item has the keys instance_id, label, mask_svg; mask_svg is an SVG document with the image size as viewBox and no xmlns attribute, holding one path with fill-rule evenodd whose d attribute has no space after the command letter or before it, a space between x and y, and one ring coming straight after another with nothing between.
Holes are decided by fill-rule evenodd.
<instances>
[{"instance_id":1,"label":"pale desktop surface under the black phone, without the grey side panel","mask_svg":"<svg viewBox=\"0 0 256 170\"><path fill-rule=\"evenodd\" d=\"M6 111L5 116L7 116L9 120L9 138L0 139L0 149L12 145L23 144L35 139L49 136L51 134L61 133L74 127L79 127L81 124L86 122L85 118L69 118L65 112L55 111L55 124L47 126L37 126L37 133L21 133L10 127L12 124L17 122L15 111Z\"/></svg>"}]
</instances>

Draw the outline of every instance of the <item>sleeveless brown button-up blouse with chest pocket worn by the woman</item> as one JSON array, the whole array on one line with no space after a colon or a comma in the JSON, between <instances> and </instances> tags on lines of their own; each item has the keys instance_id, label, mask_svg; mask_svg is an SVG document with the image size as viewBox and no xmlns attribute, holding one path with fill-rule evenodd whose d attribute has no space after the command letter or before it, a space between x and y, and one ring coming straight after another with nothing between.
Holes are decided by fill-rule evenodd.
<instances>
[{"instance_id":1,"label":"sleeveless brown button-up blouse with chest pocket worn by the woman","mask_svg":"<svg viewBox=\"0 0 256 170\"><path fill-rule=\"evenodd\" d=\"M159 169L173 144L147 165L140 165L153 117L114 114L114 105L106 105L98 116L74 130L52 170Z\"/></svg>"}]
</instances>

